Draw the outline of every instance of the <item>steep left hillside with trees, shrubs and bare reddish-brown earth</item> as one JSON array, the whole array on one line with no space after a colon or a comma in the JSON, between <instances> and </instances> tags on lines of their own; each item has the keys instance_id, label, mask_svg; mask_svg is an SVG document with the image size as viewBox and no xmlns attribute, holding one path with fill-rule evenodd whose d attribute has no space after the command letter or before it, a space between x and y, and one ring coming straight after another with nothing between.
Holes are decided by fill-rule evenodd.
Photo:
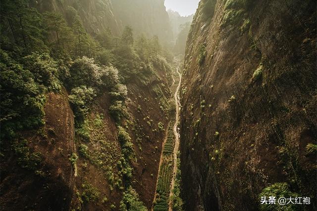
<instances>
[{"instance_id":1,"label":"steep left hillside with trees, shrubs and bare reddish-brown earth","mask_svg":"<svg viewBox=\"0 0 317 211\"><path fill-rule=\"evenodd\" d=\"M150 209L174 65L159 40L112 34L107 0L4 0L0 20L1 210Z\"/></svg>"}]
</instances>

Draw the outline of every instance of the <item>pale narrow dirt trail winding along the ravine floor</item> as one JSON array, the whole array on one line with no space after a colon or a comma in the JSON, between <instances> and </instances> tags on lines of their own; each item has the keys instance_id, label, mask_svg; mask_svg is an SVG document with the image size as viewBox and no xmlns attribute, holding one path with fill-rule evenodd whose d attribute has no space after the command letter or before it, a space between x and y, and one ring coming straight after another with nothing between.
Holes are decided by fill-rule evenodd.
<instances>
[{"instance_id":1,"label":"pale narrow dirt trail winding along the ravine floor","mask_svg":"<svg viewBox=\"0 0 317 211\"><path fill-rule=\"evenodd\" d=\"M173 127L173 131L174 131L174 135L175 135L175 146L174 146L174 150L173 150L173 160L174 160L174 167L173 167L173 176L172 176L172 181L171 181L171 185L170 185L170 192L169 192L169 198L171 199L171 196L173 195L173 189L174 189L174 185L175 185L175 175L176 175L176 171L177 171L177 152L178 152L178 148L179 148L179 134L177 132L177 126L179 123L179 97L178 97L178 91L179 91L179 87L182 81L182 76L178 71L178 68L176 69L176 72L178 73L179 76L179 83L178 86L176 88L175 94L174 94L174 99L175 99L175 106L176 106L176 116L175 116L175 124ZM174 80L175 82L175 80ZM172 203L171 201L169 201L168 204L168 211L172 211Z\"/></svg>"}]
</instances>

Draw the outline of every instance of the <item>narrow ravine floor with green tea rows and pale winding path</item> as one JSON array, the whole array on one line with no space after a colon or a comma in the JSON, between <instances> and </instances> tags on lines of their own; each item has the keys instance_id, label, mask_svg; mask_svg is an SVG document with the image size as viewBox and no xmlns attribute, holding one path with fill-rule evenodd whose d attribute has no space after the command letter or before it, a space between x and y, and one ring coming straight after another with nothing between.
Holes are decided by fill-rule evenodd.
<instances>
[{"instance_id":1,"label":"narrow ravine floor with green tea rows and pale winding path","mask_svg":"<svg viewBox=\"0 0 317 211\"><path fill-rule=\"evenodd\" d=\"M178 91L181 84L181 74L176 69L172 75L173 83L170 86L173 97L175 100L175 116L171 117L171 121L168 124L165 138L162 143L162 151L159 161L159 174L157 178L156 194L153 200L152 211L156 210L172 210L172 203L170 202L170 196L172 196L172 190L174 188L174 180L177 171L177 152L179 148L179 134L177 126L179 123L179 96Z\"/></svg>"}]
</instances>

